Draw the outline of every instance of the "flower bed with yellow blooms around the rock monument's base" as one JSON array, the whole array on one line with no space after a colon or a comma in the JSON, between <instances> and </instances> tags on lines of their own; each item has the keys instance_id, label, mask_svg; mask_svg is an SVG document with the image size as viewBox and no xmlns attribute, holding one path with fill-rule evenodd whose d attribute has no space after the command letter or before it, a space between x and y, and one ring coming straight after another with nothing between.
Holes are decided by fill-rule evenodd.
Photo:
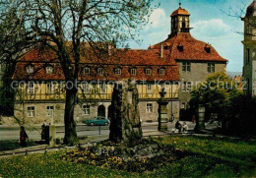
<instances>
[{"instance_id":1,"label":"flower bed with yellow blooms around the rock monument's base","mask_svg":"<svg viewBox=\"0 0 256 178\"><path fill-rule=\"evenodd\" d=\"M61 156L64 160L129 172L154 171L175 158L172 147L160 147L149 140L125 144L99 143Z\"/></svg>"}]
</instances>

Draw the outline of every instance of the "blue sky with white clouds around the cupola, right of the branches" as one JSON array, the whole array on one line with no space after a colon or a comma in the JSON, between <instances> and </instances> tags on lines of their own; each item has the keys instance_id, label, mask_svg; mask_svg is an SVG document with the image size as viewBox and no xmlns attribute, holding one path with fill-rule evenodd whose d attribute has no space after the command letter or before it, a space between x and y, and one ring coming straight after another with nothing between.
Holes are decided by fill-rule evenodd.
<instances>
[{"instance_id":1,"label":"blue sky with white clouds around the cupola, right of the branches","mask_svg":"<svg viewBox=\"0 0 256 178\"><path fill-rule=\"evenodd\" d=\"M180 0L181 7L190 13L192 36L209 42L228 60L227 71L241 72L243 66L243 17L252 0ZM167 38L170 33L170 14L178 8L179 0L155 0L159 4L150 17L150 24L140 31L138 44L130 42L131 48L147 49L150 45ZM226 14L235 12L236 17Z\"/></svg>"}]
</instances>

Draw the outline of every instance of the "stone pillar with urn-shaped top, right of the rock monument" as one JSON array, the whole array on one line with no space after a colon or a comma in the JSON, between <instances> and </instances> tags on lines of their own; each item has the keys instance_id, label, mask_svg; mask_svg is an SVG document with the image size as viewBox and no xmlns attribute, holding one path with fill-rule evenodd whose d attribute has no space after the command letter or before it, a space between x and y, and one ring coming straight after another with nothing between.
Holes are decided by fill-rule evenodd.
<instances>
[{"instance_id":1,"label":"stone pillar with urn-shaped top, right of the rock monument","mask_svg":"<svg viewBox=\"0 0 256 178\"><path fill-rule=\"evenodd\" d=\"M167 131L167 104L168 102L164 100L164 95L166 94L166 91L164 91L164 87L162 86L160 89L160 100L159 103L159 131Z\"/></svg>"}]
</instances>

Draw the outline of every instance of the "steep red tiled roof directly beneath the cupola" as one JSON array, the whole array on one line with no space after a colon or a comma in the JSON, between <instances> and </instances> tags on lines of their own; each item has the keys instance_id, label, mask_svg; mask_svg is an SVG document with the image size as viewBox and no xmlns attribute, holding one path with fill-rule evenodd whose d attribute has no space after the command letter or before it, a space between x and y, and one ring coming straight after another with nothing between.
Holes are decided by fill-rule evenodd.
<instances>
[{"instance_id":1,"label":"steep red tiled roof directly beneath the cupola","mask_svg":"<svg viewBox=\"0 0 256 178\"><path fill-rule=\"evenodd\" d=\"M213 46L195 39L189 32L179 32L160 43L165 48L164 55L170 60L227 61ZM150 46L149 49L160 49L160 43ZM179 50L178 46L183 46L183 50ZM207 52L206 47L210 47L210 52Z\"/></svg>"}]
</instances>

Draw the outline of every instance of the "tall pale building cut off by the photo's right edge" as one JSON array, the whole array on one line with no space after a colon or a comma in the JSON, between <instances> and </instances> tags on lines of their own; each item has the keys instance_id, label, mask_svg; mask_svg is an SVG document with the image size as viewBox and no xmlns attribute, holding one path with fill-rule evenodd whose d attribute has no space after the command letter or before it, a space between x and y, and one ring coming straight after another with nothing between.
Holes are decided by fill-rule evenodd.
<instances>
[{"instance_id":1,"label":"tall pale building cut off by the photo's right edge","mask_svg":"<svg viewBox=\"0 0 256 178\"><path fill-rule=\"evenodd\" d=\"M254 0L246 10L242 18L244 22L243 43L243 79L245 82L244 92L247 95L256 95L256 1Z\"/></svg>"}]
</instances>

